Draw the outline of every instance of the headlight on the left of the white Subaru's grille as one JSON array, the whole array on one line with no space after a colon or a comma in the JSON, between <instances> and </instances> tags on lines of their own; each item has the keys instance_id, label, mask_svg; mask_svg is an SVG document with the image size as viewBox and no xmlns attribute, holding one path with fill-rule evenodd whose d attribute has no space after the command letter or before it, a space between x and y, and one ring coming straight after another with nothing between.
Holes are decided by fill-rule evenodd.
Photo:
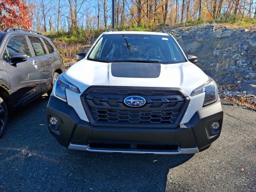
<instances>
[{"instance_id":1,"label":"headlight on the left of the white Subaru's grille","mask_svg":"<svg viewBox=\"0 0 256 192\"><path fill-rule=\"evenodd\" d=\"M55 96L56 98L58 98L64 102L67 102L66 89L80 93L79 89L76 86L74 86L72 83L68 82L68 80L66 80L63 77L63 75L60 75L54 83L53 96Z\"/></svg>"}]
</instances>

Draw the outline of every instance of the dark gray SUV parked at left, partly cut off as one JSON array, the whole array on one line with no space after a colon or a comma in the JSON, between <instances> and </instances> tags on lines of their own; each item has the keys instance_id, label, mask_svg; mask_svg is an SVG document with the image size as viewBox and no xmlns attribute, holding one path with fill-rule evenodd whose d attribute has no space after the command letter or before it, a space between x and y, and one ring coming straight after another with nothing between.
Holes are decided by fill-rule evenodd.
<instances>
[{"instance_id":1,"label":"dark gray SUV parked at left, partly cut off","mask_svg":"<svg viewBox=\"0 0 256 192\"><path fill-rule=\"evenodd\" d=\"M50 94L63 71L63 60L50 39L19 28L0 31L0 137L8 111Z\"/></svg>"}]
</instances>

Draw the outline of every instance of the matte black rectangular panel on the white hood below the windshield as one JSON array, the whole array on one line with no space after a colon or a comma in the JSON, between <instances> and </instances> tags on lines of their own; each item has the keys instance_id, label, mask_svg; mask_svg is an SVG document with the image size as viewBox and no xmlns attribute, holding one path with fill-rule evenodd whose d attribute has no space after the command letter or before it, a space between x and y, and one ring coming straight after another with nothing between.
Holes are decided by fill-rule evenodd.
<instances>
[{"instance_id":1,"label":"matte black rectangular panel on the white hood below the windshield","mask_svg":"<svg viewBox=\"0 0 256 192\"><path fill-rule=\"evenodd\" d=\"M111 74L123 78L158 78L161 64L156 63L112 63Z\"/></svg>"}]
</instances>

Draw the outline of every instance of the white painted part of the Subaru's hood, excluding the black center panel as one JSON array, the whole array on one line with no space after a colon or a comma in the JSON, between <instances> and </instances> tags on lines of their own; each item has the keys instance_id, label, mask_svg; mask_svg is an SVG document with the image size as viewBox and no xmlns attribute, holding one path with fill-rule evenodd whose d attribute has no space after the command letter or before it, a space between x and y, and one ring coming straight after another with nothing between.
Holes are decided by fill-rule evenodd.
<instances>
[{"instance_id":1,"label":"white painted part of the Subaru's hood, excluding the black center panel","mask_svg":"<svg viewBox=\"0 0 256 192\"><path fill-rule=\"evenodd\" d=\"M142 86L181 88L187 95L208 80L208 76L190 62L161 64L158 78L120 78L112 76L111 63L80 60L68 69L64 77L80 92L92 85Z\"/></svg>"}]
</instances>

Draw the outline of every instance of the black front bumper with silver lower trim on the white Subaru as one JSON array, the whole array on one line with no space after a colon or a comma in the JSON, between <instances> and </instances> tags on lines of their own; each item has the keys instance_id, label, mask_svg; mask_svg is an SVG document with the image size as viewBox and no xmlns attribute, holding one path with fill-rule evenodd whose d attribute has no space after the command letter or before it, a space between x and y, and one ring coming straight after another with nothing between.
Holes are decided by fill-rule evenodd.
<instances>
[{"instance_id":1,"label":"black front bumper with silver lower trim on the white Subaru","mask_svg":"<svg viewBox=\"0 0 256 192\"><path fill-rule=\"evenodd\" d=\"M94 152L187 154L208 148L220 136L211 123L222 125L220 100L198 110L188 123L176 129L122 128L92 126L81 120L71 106L50 96L47 119L54 116L58 124L48 123L50 133L63 146Z\"/></svg>"}]
</instances>

